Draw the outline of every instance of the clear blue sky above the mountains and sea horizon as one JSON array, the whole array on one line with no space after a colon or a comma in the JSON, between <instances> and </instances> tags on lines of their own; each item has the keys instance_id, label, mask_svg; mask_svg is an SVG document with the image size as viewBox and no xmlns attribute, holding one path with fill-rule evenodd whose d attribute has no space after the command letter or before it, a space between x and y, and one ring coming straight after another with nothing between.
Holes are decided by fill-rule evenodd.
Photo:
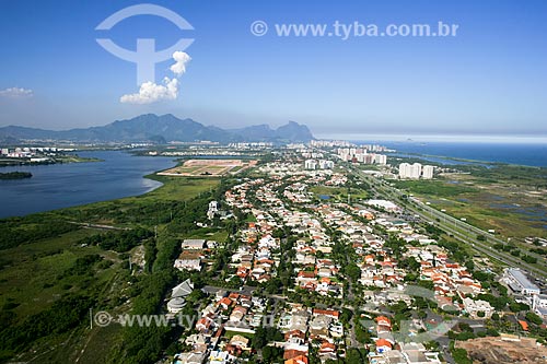
<instances>
[{"instance_id":1,"label":"clear blue sky above the mountains and sea horizon","mask_svg":"<svg viewBox=\"0 0 547 364\"><path fill-rule=\"evenodd\" d=\"M222 128L294 120L323 138L547 138L547 1L153 0L194 30L155 15L96 30L142 3L0 0L0 126L60 130L172 113ZM257 21L268 26L261 36L252 32L264 31L252 27ZM276 32L326 24L333 33L335 22L437 30L440 21L456 24L456 36ZM179 49L191 60L159 62L141 85L136 63L96 38L129 50L137 38L154 38L159 50L191 38Z\"/></svg>"}]
</instances>

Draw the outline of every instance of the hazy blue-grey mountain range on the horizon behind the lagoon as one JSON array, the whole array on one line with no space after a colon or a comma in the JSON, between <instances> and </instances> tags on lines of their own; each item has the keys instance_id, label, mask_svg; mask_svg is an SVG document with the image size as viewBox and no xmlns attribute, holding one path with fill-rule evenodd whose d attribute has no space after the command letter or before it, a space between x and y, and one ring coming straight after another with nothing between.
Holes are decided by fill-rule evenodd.
<instances>
[{"instance_id":1,"label":"hazy blue-grey mountain range on the horizon behind the lagoon","mask_svg":"<svg viewBox=\"0 0 547 364\"><path fill-rule=\"evenodd\" d=\"M148 142L158 143L208 140L213 142L307 142L314 137L305 125L289 121L277 129L257 125L241 129L205 126L193 119L179 119L172 114L146 114L127 120L116 120L102 127L70 130L44 130L8 126L0 128L0 142L18 140L65 140L74 142Z\"/></svg>"}]
</instances>

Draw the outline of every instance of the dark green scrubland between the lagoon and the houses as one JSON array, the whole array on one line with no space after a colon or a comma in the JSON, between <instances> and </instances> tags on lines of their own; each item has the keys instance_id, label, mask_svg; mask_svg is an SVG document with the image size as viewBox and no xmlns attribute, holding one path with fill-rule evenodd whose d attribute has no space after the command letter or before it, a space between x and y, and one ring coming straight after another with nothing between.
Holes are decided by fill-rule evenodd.
<instances>
[{"instance_id":1,"label":"dark green scrubland between the lagoon and the houses","mask_svg":"<svg viewBox=\"0 0 547 364\"><path fill-rule=\"evenodd\" d=\"M141 197L0 220L0 362L16 354L18 361L149 363L174 341L179 333L171 327L90 330L90 308L160 313L166 292L185 278L173 268L178 238L200 234L195 221L205 220L207 203L224 188L210 178L158 179L165 185ZM147 263L133 265L131 274L128 261L139 251ZM202 284L199 274L191 278Z\"/></svg>"}]
</instances>

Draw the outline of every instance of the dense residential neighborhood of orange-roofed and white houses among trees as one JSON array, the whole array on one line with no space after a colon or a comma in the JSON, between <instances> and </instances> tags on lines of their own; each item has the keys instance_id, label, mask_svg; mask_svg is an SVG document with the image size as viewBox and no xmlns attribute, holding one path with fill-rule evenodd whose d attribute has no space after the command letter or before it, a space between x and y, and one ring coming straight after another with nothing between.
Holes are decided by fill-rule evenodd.
<instances>
[{"instance_id":1,"label":"dense residential neighborhood of orange-roofed and white houses among trees","mask_svg":"<svg viewBox=\"0 0 547 364\"><path fill-rule=\"evenodd\" d=\"M214 201L243 220L176 363L458 363L450 340L517 317L500 300L545 314L522 272L498 277L328 157L294 145ZM185 239L174 266L199 271L216 248Z\"/></svg>"}]
</instances>

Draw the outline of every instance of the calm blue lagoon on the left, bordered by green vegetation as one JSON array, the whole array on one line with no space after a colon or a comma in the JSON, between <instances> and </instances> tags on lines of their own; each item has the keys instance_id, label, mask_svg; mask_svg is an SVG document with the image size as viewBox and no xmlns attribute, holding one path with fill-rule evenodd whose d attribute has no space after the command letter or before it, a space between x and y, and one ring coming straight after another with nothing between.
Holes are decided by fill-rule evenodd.
<instances>
[{"instance_id":1,"label":"calm blue lagoon on the left, bordered by green vegetation","mask_svg":"<svg viewBox=\"0 0 547 364\"><path fill-rule=\"evenodd\" d=\"M142 195L161 186L143 176L175 165L173 157L121 151L78 154L104 162L1 167L1 173L30 172L33 177L0 180L0 218Z\"/></svg>"}]
</instances>

